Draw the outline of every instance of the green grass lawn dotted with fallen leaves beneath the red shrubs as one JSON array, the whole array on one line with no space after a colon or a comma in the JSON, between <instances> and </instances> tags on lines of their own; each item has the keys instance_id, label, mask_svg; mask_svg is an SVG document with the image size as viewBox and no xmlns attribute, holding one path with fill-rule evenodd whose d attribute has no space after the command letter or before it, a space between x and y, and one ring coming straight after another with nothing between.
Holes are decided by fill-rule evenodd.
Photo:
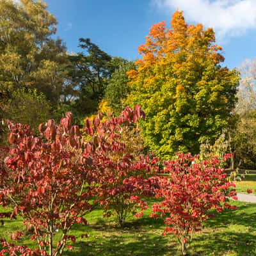
<instances>
[{"instance_id":1,"label":"green grass lawn dotted with fallen leaves beneath the red shrubs","mask_svg":"<svg viewBox=\"0 0 256 256\"><path fill-rule=\"evenodd\" d=\"M243 202L232 202L237 205L236 211L214 213L215 218L204 223L201 232L189 247L193 256L242 256L256 255L256 205ZM2 209L3 211L3 209ZM72 252L63 255L97 255L97 256L164 256L179 255L173 237L161 236L163 221L149 218L149 210L139 220L129 218L124 229L116 227L115 218L104 219L102 212L96 210L88 216L88 225L76 225L70 234L78 237ZM22 228L22 221L6 220L0 226L0 236L10 241L13 231ZM89 234L81 239L81 234ZM33 246L28 236L19 244Z\"/></svg>"}]
</instances>

